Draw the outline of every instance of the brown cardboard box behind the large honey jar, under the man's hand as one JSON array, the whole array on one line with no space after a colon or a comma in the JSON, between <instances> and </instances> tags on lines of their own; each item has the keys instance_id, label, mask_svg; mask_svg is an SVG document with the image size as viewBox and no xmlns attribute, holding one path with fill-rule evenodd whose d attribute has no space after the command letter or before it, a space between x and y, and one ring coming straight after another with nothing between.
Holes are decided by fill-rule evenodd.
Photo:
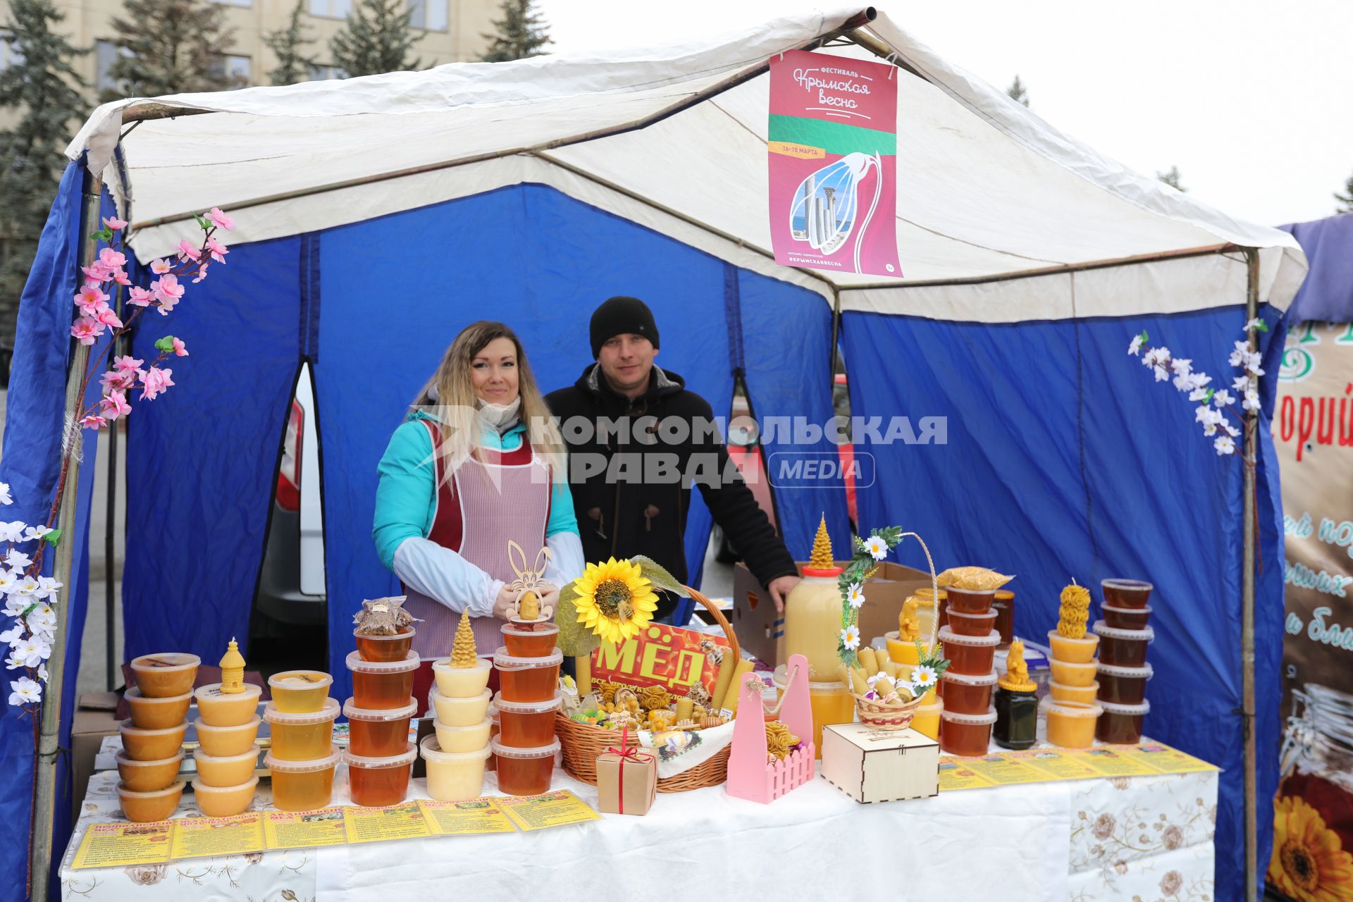
<instances>
[{"instance_id":1,"label":"brown cardboard box behind the large honey jar, under the man's hand","mask_svg":"<svg viewBox=\"0 0 1353 902\"><path fill-rule=\"evenodd\" d=\"M800 571L808 561L797 561ZM836 561L844 567L847 561ZM917 588L928 587L930 573L884 561L878 572L865 584L869 599L859 609L859 636L865 645L897 629L897 615L902 603ZM737 632L737 642L754 657L771 667L786 663L785 615L775 613L775 602L741 561L733 568L733 614L729 618Z\"/></svg>"}]
</instances>

